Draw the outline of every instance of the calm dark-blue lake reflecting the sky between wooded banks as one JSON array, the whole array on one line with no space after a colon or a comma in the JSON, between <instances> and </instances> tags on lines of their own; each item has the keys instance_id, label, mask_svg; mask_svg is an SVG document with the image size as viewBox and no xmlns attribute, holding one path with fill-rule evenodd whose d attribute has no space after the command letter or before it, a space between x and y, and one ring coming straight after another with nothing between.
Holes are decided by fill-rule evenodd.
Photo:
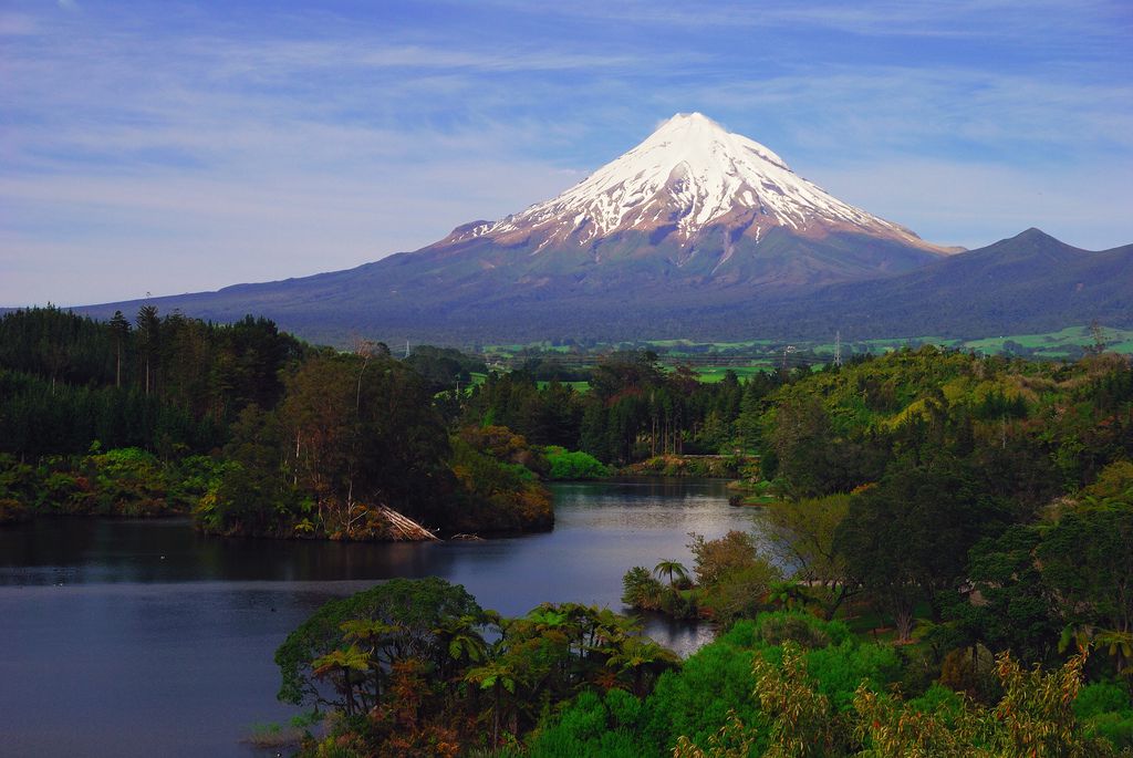
<instances>
[{"instance_id":1,"label":"calm dark-blue lake reflecting the sky between wooded banks","mask_svg":"<svg viewBox=\"0 0 1133 758\"><path fill-rule=\"evenodd\" d=\"M553 488L554 531L485 542L220 539L187 521L0 529L0 756L263 755L240 738L296 713L275 701L272 655L332 597L438 576L505 615L544 601L622 610L631 565L690 564L688 533L751 526L722 482ZM664 620L647 630L685 653L710 636Z\"/></svg>"}]
</instances>

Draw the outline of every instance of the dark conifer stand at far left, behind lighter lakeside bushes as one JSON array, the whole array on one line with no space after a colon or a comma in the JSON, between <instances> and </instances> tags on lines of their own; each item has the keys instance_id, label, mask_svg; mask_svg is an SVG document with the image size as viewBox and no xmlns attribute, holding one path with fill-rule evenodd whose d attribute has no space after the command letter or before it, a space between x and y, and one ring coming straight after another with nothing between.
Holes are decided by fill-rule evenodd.
<instances>
[{"instance_id":1,"label":"dark conifer stand at far left, behind lighter lakeside bushes","mask_svg":"<svg viewBox=\"0 0 1133 758\"><path fill-rule=\"evenodd\" d=\"M58 308L0 317L0 452L78 454L92 440L162 458L208 452L250 403L275 404L306 347L264 318L100 323Z\"/></svg>"}]
</instances>

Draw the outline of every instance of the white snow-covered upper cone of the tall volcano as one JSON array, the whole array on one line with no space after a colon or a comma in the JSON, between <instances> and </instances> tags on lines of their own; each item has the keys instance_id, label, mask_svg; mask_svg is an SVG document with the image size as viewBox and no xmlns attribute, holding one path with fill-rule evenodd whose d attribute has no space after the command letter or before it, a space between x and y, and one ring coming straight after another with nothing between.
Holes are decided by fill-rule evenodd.
<instances>
[{"instance_id":1,"label":"white snow-covered upper cone of the tall volcano","mask_svg":"<svg viewBox=\"0 0 1133 758\"><path fill-rule=\"evenodd\" d=\"M806 237L866 233L945 252L900 224L843 203L764 145L700 113L678 113L554 199L495 223L465 227L445 241L489 237L511 245L534 236L543 249L563 242L587 246L628 230L649 232L656 242L662 230L687 247L714 228L726 229L733 241L741 235L758 241L776 227Z\"/></svg>"}]
</instances>

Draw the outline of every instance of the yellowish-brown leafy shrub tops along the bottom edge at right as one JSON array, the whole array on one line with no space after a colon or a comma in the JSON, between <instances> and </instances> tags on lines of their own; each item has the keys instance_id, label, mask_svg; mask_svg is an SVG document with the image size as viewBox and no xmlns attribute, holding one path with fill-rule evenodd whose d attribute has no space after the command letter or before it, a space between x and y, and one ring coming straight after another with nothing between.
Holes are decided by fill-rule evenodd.
<instances>
[{"instance_id":1,"label":"yellowish-brown leafy shrub tops along the bottom edge at right","mask_svg":"<svg viewBox=\"0 0 1133 758\"><path fill-rule=\"evenodd\" d=\"M857 650L869 648L876 646L862 645ZM719 718L714 731L683 733L674 742L673 755L733 758L751 755L752 749L763 756L872 758L1116 755L1110 742L1091 733L1097 727L1074 715L1084 656L1049 673L1023 671L1010 656L1000 656L996 671L1004 695L994 708L983 708L940 688L909 701L881 695L884 689L870 683L868 674L852 691L845 681L828 688L816 670L826 664L824 654L845 658L844 653L826 648L804 655L787 642L755 656L750 699L758 702L766 725L733 712ZM843 706L835 708L838 701ZM766 740L766 748L757 747L760 739Z\"/></svg>"}]
</instances>

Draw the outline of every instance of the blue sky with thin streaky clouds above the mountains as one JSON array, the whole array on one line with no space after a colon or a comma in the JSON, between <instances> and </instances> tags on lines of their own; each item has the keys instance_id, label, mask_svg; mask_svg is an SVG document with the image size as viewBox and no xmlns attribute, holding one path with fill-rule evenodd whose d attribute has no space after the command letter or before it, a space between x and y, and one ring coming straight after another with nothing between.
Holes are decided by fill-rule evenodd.
<instances>
[{"instance_id":1,"label":"blue sky with thin streaky clouds above the mountains","mask_svg":"<svg viewBox=\"0 0 1133 758\"><path fill-rule=\"evenodd\" d=\"M693 110L932 241L1128 244L1131 40L1127 0L0 0L0 305L416 249Z\"/></svg>"}]
</instances>

